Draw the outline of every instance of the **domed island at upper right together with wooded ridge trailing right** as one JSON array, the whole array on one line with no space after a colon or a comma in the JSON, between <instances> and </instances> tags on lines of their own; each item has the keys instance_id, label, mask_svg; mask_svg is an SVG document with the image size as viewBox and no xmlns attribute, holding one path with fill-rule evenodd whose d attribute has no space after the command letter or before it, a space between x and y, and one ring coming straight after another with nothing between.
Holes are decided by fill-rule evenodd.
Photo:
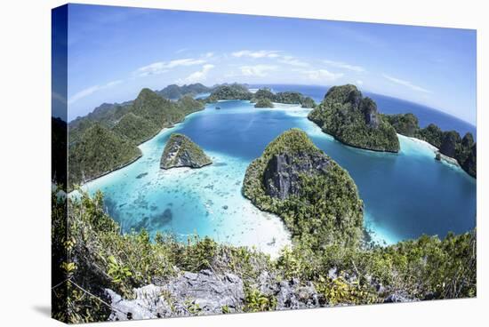
<instances>
[{"instance_id":1,"label":"domed island at upper right together with wooded ridge trailing right","mask_svg":"<svg viewBox=\"0 0 489 327\"><path fill-rule=\"evenodd\" d=\"M456 131L442 131L436 124L421 128L413 114L383 115L370 98L364 98L355 85L333 86L325 99L309 113L321 129L355 148L398 152L397 133L425 140L440 155L456 160L470 176L477 177L477 143L470 132L463 138Z\"/></svg>"}]
</instances>

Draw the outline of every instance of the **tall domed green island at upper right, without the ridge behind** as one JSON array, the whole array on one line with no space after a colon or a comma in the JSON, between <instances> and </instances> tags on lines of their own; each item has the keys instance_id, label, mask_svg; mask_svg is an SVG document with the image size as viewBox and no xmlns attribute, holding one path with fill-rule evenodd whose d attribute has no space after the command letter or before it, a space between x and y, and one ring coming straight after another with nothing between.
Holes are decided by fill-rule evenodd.
<instances>
[{"instance_id":1,"label":"tall domed green island at upper right, without the ridge behind","mask_svg":"<svg viewBox=\"0 0 489 327\"><path fill-rule=\"evenodd\" d=\"M399 151L396 130L389 121L381 119L375 102L363 98L355 85L333 86L308 117L324 132L349 146Z\"/></svg>"}]
</instances>

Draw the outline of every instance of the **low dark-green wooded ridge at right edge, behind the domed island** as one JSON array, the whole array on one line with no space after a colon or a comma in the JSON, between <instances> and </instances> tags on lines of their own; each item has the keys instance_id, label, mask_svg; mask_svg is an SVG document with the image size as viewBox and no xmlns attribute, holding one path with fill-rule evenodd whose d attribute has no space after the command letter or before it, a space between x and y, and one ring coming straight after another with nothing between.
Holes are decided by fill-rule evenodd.
<instances>
[{"instance_id":1,"label":"low dark-green wooded ridge at right edge, behind the domed island","mask_svg":"<svg viewBox=\"0 0 489 327\"><path fill-rule=\"evenodd\" d=\"M477 144L471 133L461 138L458 132L444 132L436 124L420 128L413 114L383 115L382 119L392 124L399 134L427 141L438 148L440 154L456 159L470 176L477 177ZM438 154L436 158L441 159L441 156Z\"/></svg>"}]
</instances>

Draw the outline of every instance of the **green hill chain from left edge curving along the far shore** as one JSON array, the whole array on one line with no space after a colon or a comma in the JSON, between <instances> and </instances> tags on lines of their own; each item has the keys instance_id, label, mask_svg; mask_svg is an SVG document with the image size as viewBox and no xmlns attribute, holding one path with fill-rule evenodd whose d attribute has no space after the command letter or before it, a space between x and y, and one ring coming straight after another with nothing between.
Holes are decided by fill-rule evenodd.
<instances>
[{"instance_id":1,"label":"green hill chain from left edge curving along the far shore","mask_svg":"<svg viewBox=\"0 0 489 327\"><path fill-rule=\"evenodd\" d=\"M204 100L195 100L193 96L200 92L211 94ZM143 89L135 100L104 103L68 124L69 187L131 164L141 156L137 148L140 143L180 123L188 114L204 109L205 102L217 100L251 100L257 102L257 108L273 108L271 101L314 106L314 100L299 92L273 93L261 89L253 93L244 84L212 88L203 84L172 84L156 92Z\"/></svg>"}]
</instances>

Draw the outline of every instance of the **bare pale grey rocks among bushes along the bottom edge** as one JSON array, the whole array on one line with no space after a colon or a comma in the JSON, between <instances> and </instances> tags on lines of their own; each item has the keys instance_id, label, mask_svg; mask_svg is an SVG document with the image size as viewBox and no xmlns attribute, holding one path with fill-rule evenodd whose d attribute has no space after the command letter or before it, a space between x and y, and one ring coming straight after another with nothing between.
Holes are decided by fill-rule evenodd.
<instances>
[{"instance_id":1,"label":"bare pale grey rocks among bushes along the bottom edge","mask_svg":"<svg viewBox=\"0 0 489 327\"><path fill-rule=\"evenodd\" d=\"M336 269L329 273L337 278ZM351 283L356 278L351 277ZM385 289L381 284L373 285L379 293ZM276 276L263 271L258 277L255 290L261 297L276 299L276 310L329 307L321 303L322 295L311 282L298 278L277 282ZM115 291L106 290L110 299L110 321L139 320L190 315L219 315L243 313L246 306L244 283L234 274L219 275L204 269L198 273L185 272L169 283L154 283L134 289L134 299L124 299ZM385 294L385 293L384 293ZM403 292L392 292L385 296L384 303L411 302Z\"/></svg>"}]
</instances>

